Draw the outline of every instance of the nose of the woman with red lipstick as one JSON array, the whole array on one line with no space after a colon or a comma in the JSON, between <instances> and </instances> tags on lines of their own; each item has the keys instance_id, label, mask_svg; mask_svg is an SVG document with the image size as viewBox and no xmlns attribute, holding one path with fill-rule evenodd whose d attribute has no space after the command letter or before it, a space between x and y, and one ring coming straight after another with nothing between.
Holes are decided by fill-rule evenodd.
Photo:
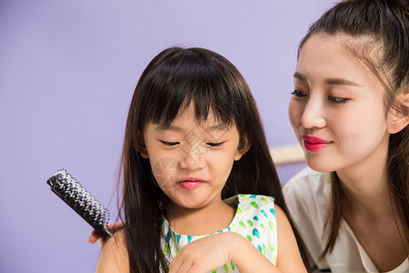
<instances>
[{"instance_id":1,"label":"nose of the woman with red lipstick","mask_svg":"<svg viewBox=\"0 0 409 273\"><path fill-rule=\"evenodd\" d=\"M323 128L326 126L326 119L324 116L324 103L320 100L308 100L304 107L303 115L301 116L301 125L304 128Z\"/></svg>"}]
</instances>

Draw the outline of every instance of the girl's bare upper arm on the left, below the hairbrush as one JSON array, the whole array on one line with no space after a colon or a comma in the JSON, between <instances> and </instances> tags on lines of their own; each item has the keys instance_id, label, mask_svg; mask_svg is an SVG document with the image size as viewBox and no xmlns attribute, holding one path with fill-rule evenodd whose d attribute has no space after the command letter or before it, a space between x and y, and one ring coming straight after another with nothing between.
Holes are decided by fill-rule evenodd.
<instances>
[{"instance_id":1,"label":"girl's bare upper arm on the left, below the hairbrush","mask_svg":"<svg viewBox=\"0 0 409 273\"><path fill-rule=\"evenodd\" d=\"M105 242L95 272L130 272L124 230L116 232Z\"/></svg>"}]
</instances>

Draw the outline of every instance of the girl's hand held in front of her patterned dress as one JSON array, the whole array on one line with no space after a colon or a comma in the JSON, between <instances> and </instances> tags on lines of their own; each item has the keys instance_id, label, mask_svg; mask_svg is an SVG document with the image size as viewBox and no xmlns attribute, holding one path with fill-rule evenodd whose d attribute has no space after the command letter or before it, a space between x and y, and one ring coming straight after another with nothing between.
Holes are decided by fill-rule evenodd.
<instances>
[{"instance_id":1,"label":"girl's hand held in front of her patterned dress","mask_svg":"<svg viewBox=\"0 0 409 273\"><path fill-rule=\"evenodd\" d=\"M209 272L232 261L232 247L242 236L233 232L217 233L195 240L181 248L169 265L169 273Z\"/></svg>"}]
</instances>

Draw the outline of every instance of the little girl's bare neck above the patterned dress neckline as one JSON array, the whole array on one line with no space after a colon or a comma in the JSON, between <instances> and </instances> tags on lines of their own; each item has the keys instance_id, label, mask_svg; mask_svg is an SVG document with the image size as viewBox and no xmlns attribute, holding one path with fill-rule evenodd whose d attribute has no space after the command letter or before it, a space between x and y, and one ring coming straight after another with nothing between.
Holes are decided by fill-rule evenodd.
<instances>
[{"instance_id":1,"label":"little girl's bare neck above the patterned dress neckline","mask_svg":"<svg viewBox=\"0 0 409 273\"><path fill-rule=\"evenodd\" d=\"M199 236L228 227L235 215L236 207L230 207L221 199L211 206L197 209L176 207L175 217L169 222L175 232Z\"/></svg>"}]
</instances>

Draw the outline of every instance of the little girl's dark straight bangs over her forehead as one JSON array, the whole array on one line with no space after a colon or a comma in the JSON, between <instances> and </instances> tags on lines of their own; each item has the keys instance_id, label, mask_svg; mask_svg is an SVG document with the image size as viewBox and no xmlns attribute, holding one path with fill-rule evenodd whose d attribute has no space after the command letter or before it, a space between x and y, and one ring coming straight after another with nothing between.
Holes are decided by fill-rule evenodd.
<instances>
[{"instance_id":1,"label":"little girl's dark straight bangs over her forehead","mask_svg":"<svg viewBox=\"0 0 409 273\"><path fill-rule=\"evenodd\" d=\"M145 121L169 126L178 114L192 107L198 122L205 121L212 111L215 122L234 125L237 113L233 106L237 99L227 87L231 84L226 76L208 64L186 63L184 60L183 65L169 64L154 71L145 89L149 106Z\"/></svg>"}]
</instances>

